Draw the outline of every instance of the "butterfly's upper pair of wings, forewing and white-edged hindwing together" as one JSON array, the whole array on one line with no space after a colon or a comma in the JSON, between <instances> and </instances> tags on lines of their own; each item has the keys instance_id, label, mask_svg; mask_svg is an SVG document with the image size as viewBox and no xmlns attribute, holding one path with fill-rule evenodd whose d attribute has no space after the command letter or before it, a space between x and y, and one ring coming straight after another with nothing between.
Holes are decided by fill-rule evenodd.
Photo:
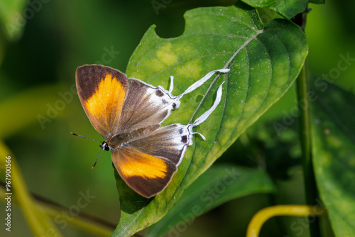
<instances>
[{"instance_id":1,"label":"butterfly's upper pair of wings, forewing and white-edged hindwing together","mask_svg":"<svg viewBox=\"0 0 355 237\"><path fill-rule=\"evenodd\" d=\"M160 124L180 101L170 92L102 65L77 68L77 92L92 126L104 138Z\"/></svg>"}]
</instances>

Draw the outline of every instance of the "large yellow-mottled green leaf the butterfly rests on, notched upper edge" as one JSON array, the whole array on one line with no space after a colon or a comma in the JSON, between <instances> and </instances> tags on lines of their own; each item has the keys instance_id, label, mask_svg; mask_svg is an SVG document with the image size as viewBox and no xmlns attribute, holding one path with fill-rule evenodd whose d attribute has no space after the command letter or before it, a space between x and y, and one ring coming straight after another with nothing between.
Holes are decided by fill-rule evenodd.
<instances>
[{"instance_id":1,"label":"large yellow-mottled green leaf the butterfly rests on, notched upper edge","mask_svg":"<svg viewBox=\"0 0 355 237\"><path fill-rule=\"evenodd\" d=\"M143 199L116 176L121 220L113 236L131 236L163 218L182 192L285 94L300 72L307 55L300 28L281 19L263 28L255 9L242 2L236 5L187 11L185 31L177 38L159 38L152 26L131 56L129 77L168 88L174 75L175 95L209 71L227 67L231 72L187 94L163 123L192 123L212 106L217 87L225 82L221 103L194 129L207 140L195 137L162 193Z\"/></svg>"}]
</instances>

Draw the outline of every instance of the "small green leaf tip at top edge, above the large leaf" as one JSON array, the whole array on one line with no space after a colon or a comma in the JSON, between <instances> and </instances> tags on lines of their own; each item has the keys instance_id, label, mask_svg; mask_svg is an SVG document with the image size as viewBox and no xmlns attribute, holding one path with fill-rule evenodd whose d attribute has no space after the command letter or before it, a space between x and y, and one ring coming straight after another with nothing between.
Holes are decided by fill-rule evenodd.
<instances>
[{"instance_id":1,"label":"small green leaf tip at top edge, above the large leaf","mask_svg":"<svg viewBox=\"0 0 355 237\"><path fill-rule=\"evenodd\" d=\"M286 19L290 19L305 11L307 3L308 0L278 0L271 7L271 10L276 11Z\"/></svg>"}]
</instances>

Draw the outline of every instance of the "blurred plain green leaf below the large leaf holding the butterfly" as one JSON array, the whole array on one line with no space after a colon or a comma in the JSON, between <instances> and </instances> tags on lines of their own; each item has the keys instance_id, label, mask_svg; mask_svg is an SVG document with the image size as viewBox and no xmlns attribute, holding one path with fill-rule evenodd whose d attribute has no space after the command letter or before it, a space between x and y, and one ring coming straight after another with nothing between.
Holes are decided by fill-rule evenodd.
<instances>
[{"instance_id":1,"label":"blurred plain green leaf below the large leaf holding the butterfly","mask_svg":"<svg viewBox=\"0 0 355 237\"><path fill-rule=\"evenodd\" d=\"M233 165L213 165L198 177L179 202L157 224L148 228L147 237L170 236L177 224L191 225L197 216L231 199L255 193L273 192L274 186L266 172Z\"/></svg>"}]
</instances>

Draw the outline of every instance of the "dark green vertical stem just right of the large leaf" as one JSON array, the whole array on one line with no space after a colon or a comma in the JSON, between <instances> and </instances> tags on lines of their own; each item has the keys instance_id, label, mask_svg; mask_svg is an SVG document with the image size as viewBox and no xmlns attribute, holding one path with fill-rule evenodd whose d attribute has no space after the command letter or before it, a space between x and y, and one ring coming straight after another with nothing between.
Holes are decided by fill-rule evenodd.
<instances>
[{"instance_id":1,"label":"dark green vertical stem just right of the large leaf","mask_svg":"<svg viewBox=\"0 0 355 237\"><path fill-rule=\"evenodd\" d=\"M310 99L308 97L307 60L297 78L297 96L300 109L300 142L302 147L303 178L307 205L316 205L318 192L312 165ZM312 220L312 221L311 221ZM320 237L320 221L310 219L310 236Z\"/></svg>"}]
</instances>

